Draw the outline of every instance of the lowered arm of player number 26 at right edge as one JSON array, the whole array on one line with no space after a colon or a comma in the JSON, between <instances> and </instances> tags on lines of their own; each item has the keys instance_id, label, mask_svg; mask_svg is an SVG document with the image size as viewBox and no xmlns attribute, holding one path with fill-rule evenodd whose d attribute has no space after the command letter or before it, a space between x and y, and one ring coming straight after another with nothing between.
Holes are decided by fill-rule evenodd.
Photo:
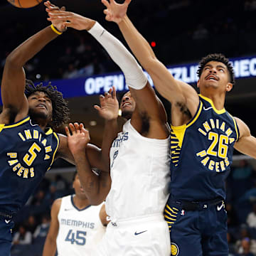
<instances>
[{"instance_id":1,"label":"lowered arm of player number 26 at right edge","mask_svg":"<svg viewBox=\"0 0 256 256\"><path fill-rule=\"evenodd\" d=\"M235 117L235 120L238 123L240 132L240 138L238 139L238 142L235 142L235 149L242 154L246 154L247 156L256 159L256 138L250 134L250 129L245 122L242 122L242 120L237 117Z\"/></svg>"}]
</instances>

